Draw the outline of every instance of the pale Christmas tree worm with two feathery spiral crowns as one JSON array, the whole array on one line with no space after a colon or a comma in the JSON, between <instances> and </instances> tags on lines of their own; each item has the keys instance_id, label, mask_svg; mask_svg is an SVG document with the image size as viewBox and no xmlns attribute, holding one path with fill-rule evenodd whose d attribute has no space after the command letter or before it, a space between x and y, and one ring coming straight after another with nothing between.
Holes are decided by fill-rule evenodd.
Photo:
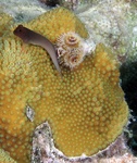
<instances>
[{"instance_id":1,"label":"pale Christmas tree worm with two feathery spiral crowns","mask_svg":"<svg viewBox=\"0 0 137 163\"><path fill-rule=\"evenodd\" d=\"M57 39L57 49L60 63L70 68L79 65L86 54L84 39L73 32L62 34Z\"/></svg>"}]
</instances>

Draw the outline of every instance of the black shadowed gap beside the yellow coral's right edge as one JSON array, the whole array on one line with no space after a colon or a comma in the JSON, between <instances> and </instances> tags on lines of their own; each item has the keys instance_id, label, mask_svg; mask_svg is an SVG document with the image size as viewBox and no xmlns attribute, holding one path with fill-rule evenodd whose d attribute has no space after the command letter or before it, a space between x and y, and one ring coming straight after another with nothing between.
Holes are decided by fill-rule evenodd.
<instances>
[{"instance_id":1,"label":"black shadowed gap beside the yellow coral's right edge","mask_svg":"<svg viewBox=\"0 0 137 163\"><path fill-rule=\"evenodd\" d=\"M124 63L121 66L122 88L133 117L129 120L127 145L133 154L137 156L137 62Z\"/></svg>"}]
</instances>

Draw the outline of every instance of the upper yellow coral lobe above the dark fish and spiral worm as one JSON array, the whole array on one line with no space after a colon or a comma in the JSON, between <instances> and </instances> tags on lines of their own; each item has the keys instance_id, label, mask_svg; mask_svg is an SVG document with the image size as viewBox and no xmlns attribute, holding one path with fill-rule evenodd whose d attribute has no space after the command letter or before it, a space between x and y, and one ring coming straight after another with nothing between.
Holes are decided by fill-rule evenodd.
<instances>
[{"instance_id":1,"label":"upper yellow coral lobe above the dark fish and spiral worm","mask_svg":"<svg viewBox=\"0 0 137 163\"><path fill-rule=\"evenodd\" d=\"M26 24L26 27L40 33L52 42L55 42L58 37L68 32L76 32L83 38L88 37L84 24L74 13L64 8L57 8L40 15L37 20Z\"/></svg>"}]
</instances>

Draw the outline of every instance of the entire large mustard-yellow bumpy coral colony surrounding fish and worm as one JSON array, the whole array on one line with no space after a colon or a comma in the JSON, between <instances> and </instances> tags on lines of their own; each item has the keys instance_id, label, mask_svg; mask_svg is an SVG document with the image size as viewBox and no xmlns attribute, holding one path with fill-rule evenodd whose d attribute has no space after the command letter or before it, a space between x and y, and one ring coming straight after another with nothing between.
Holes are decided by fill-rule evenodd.
<instances>
[{"instance_id":1,"label":"entire large mustard-yellow bumpy coral colony surrounding fish and worm","mask_svg":"<svg viewBox=\"0 0 137 163\"><path fill-rule=\"evenodd\" d=\"M87 37L79 20L62 8L26 26L53 42L68 30ZM128 117L119 76L113 55L102 45L74 72L62 68L60 78L41 47L22 49L22 40L13 35L1 39L0 148L18 163L29 162L33 130L48 121L55 147L64 154L91 155L104 149L122 133ZM33 122L26 117L26 106L35 111Z\"/></svg>"}]
</instances>

